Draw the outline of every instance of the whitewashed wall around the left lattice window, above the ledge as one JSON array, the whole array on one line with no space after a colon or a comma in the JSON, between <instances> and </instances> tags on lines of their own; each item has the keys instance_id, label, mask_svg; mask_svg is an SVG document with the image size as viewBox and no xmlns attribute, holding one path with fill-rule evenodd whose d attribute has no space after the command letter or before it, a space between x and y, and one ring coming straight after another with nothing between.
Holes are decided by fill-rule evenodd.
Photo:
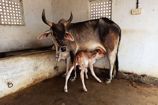
<instances>
[{"instance_id":1,"label":"whitewashed wall around the left lattice window, above the ledge","mask_svg":"<svg viewBox=\"0 0 158 105\"><path fill-rule=\"evenodd\" d=\"M42 47L49 40L38 41L36 37L48 27L42 22L41 14L46 9L52 20L52 0L23 0L25 26L0 25L0 52Z\"/></svg>"}]
</instances>

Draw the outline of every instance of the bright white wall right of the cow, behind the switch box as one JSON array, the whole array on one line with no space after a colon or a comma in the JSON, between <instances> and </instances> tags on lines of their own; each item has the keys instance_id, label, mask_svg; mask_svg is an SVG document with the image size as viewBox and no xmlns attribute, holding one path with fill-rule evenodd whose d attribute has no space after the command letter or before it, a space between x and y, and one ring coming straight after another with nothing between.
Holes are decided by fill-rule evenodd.
<instances>
[{"instance_id":1,"label":"bright white wall right of the cow, behind the switch box","mask_svg":"<svg viewBox=\"0 0 158 105\"><path fill-rule=\"evenodd\" d=\"M158 1L140 0L140 15L131 15L135 0L113 0L113 20L122 28L120 67L158 77Z\"/></svg>"}]
</instances>

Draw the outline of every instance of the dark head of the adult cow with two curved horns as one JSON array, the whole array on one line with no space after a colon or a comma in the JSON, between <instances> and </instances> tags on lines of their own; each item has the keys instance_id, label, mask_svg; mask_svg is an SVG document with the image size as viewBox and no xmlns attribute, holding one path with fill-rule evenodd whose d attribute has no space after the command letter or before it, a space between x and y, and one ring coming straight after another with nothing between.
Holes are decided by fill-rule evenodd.
<instances>
[{"instance_id":1,"label":"dark head of the adult cow with two curved horns","mask_svg":"<svg viewBox=\"0 0 158 105\"><path fill-rule=\"evenodd\" d=\"M45 10L43 10L42 12L42 20L50 27L50 30L52 30L52 35L55 37L59 46L65 46L65 39L73 41L72 35L66 31L69 25L71 24L72 19L73 16L71 13L70 18L68 20L61 19L58 23L54 23L46 19Z\"/></svg>"}]
</instances>

